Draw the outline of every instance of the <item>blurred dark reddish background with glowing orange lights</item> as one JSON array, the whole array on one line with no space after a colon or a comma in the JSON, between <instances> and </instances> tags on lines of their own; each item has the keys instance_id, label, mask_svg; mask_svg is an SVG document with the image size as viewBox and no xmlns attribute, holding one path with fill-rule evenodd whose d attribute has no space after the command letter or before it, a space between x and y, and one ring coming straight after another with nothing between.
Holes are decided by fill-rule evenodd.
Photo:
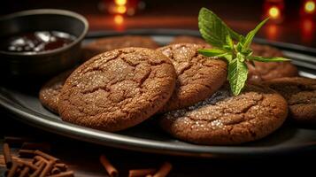
<instances>
[{"instance_id":1,"label":"blurred dark reddish background with glowing orange lights","mask_svg":"<svg viewBox=\"0 0 316 177\"><path fill-rule=\"evenodd\" d=\"M198 11L207 7L242 34L270 17L258 37L316 48L315 4L316 0L4 0L0 14L56 8L81 13L89 20L90 31L198 29Z\"/></svg>"}]
</instances>

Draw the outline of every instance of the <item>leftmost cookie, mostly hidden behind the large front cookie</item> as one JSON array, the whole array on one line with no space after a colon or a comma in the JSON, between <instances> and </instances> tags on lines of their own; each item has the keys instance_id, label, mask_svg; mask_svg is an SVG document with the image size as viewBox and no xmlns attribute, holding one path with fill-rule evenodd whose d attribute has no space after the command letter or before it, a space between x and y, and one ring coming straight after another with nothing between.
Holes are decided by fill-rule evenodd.
<instances>
[{"instance_id":1,"label":"leftmost cookie, mostly hidden behind the large front cookie","mask_svg":"<svg viewBox=\"0 0 316 177\"><path fill-rule=\"evenodd\" d=\"M41 104L51 112L58 113L58 97L68 76L73 70L60 73L46 82L39 93Z\"/></svg>"}]
</instances>

